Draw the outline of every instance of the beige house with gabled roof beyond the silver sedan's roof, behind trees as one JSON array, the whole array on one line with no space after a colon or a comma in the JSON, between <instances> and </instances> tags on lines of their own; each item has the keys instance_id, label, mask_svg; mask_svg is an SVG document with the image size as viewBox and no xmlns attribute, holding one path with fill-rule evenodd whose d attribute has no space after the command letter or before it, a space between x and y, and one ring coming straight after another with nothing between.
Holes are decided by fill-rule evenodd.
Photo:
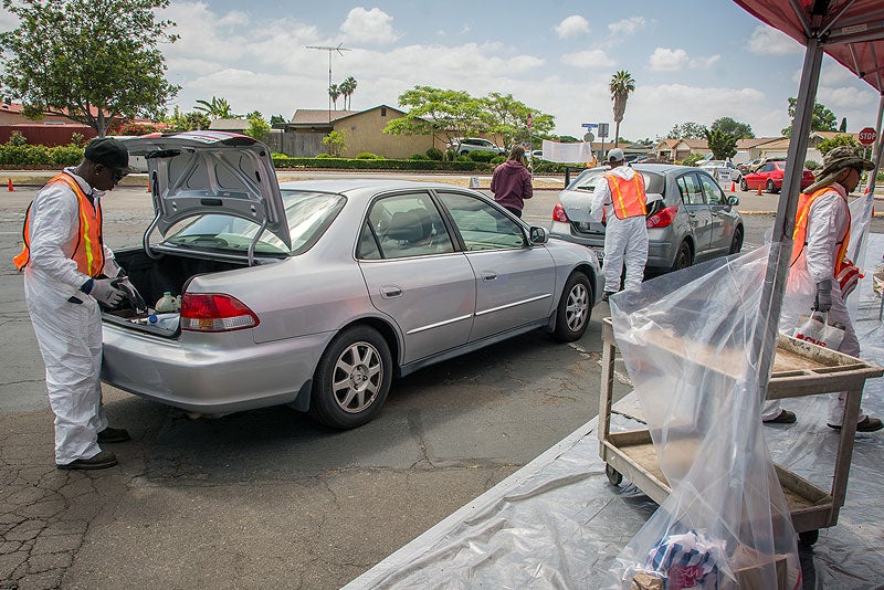
<instances>
[{"instance_id":1,"label":"beige house with gabled roof beyond the silver sedan's roof, behind trees","mask_svg":"<svg viewBox=\"0 0 884 590\"><path fill-rule=\"evenodd\" d=\"M388 105L378 105L366 110L298 108L292 120L282 126L284 133L277 136L280 145L272 148L295 157L325 154L328 148L323 145L323 138L335 130L344 134L341 156L345 158L354 158L368 151L385 158L406 159L413 154L425 154L431 147L444 149L444 143L432 135L383 133L390 120L404 114Z\"/></svg>"}]
</instances>

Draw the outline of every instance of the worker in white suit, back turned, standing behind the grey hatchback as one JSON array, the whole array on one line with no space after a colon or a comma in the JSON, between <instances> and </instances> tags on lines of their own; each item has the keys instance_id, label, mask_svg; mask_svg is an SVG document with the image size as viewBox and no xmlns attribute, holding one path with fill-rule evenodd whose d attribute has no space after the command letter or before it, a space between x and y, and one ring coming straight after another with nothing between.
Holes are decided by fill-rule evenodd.
<instances>
[{"instance_id":1,"label":"worker in white suit, back turned, standing behind the grey hatchback","mask_svg":"<svg viewBox=\"0 0 884 590\"><path fill-rule=\"evenodd\" d=\"M608 152L611 170L604 181L596 186L590 202L589 218L607 219L604 226L604 294L601 299L620 291L623 264L627 266L624 287L635 286L644 278L648 262L648 214L644 179L625 165L623 150Z\"/></svg>"}]
</instances>

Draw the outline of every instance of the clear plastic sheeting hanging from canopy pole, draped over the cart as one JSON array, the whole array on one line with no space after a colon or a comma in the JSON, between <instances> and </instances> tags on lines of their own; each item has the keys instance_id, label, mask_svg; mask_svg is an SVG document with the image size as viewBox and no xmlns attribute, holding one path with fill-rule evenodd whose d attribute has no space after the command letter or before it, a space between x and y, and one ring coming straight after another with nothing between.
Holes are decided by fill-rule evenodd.
<instances>
[{"instance_id":1,"label":"clear plastic sheeting hanging from canopy pole, draped over the cart","mask_svg":"<svg viewBox=\"0 0 884 590\"><path fill-rule=\"evenodd\" d=\"M762 351L753 350L768 329L756 324L770 247L610 299L614 337L672 487L612 563L612 588L669 569L666 588L736 588L735 571L755 568L755 584L776 589L777 559L789 587L800 583L796 531L761 432L769 375L758 375ZM702 567L686 571L692 563Z\"/></svg>"}]
</instances>

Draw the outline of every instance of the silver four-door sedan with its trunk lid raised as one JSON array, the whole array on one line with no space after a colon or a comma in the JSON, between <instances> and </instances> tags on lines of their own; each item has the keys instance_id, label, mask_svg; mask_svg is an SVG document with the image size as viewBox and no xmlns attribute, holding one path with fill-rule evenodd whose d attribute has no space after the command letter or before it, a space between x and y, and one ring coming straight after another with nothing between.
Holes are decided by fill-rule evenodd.
<instances>
[{"instance_id":1,"label":"silver four-door sedan with its trunk lid raised","mask_svg":"<svg viewBox=\"0 0 884 590\"><path fill-rule=\"evenodd\" d=\"M281 187L266 146L223 133L126 145L146 157L156 219L115 255L148 303L180 296L175 312L134 293L104 310L102 379L126 391L209 413L291 404L352 428L393 377L536 328L573 340L589 323L596 256L478 192Z\"/></svg>"}]
</instances>

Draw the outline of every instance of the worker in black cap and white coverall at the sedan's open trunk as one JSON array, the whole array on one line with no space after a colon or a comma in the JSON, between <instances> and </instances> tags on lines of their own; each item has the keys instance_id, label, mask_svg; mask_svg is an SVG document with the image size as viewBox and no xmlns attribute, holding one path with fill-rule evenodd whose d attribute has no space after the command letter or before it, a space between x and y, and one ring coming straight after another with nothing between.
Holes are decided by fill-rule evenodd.
<instances>
[{"instance_id":1,"label":"worker in black cap and white coverall at the sedan's open trunk","mask_svg":"<svg viewBox=\"0 0 884 590\"><path fill-rule=\"evenodd\" d=\"M125 430L108 428L98 378L98 302L119 304L125 294L115 281L128 281L102 241L101 199L130 171L128 160L119 140L93 139L78 166L38 191L24 220L24 247L14 257L46 367L59 468L116 465L114 453L99 444L129 440Z\"/></svg>"}]
</instances>

